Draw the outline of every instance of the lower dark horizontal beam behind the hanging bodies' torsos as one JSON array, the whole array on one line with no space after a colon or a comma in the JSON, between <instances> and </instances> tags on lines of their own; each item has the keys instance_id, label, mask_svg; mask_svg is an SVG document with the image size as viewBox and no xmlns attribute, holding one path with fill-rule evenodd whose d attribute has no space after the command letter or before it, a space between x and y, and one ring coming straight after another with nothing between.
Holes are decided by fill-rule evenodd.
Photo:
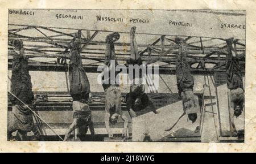
<instances>
[{"instance_id":1,"label":"lower dark horizontal beam behind the hanging bodies' torsos","mask_svg":"<svg viewBox=\"0 0 256 164\"><path fill-rule=\"evenodd\" d=\"M36 101L37 111L72 111L72 97L67 92L33 92ZM121 93L123 98L126 97L125 92ZM162 107L166 103L179 101L177 93L148 93L149 98L155 104L155 107ZM93 111L105 110L105 93L92 92L91 101L88 103L90 109ZM94 101L96 100L96 101ZM8 101L8 110L11 111L11 101ZM125 111L126 103L122 102L122 110Z\"/></svg>"}]
</instances>

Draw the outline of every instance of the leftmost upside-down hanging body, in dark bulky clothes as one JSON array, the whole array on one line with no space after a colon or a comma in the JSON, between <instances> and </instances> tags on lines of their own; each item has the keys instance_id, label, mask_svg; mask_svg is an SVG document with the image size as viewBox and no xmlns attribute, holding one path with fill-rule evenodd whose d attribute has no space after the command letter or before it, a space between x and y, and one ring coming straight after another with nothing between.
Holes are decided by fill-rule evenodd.
<instances>
[{"instance_id":1,"label":"leftmost upside-down hanging body, in dark bulky clothes","mask_svg":"<svg viewBox=\"0 0 256 164\"><path fill-rule=\"evenodd\" d=\"M34 109L34 94L32 92L31 77L28 71L28 59L24 55L23 42L19 40L11 41L14 50L9 55L13 55L13 70L11 75L11 93L19 98L22 102ZM13 139L11 133L17 131L17 140L27 140L27 133L34 132L33 140L40 140L38 127L35 126L32 112L27 109L26 105L10 97L12 103L13 119L10 120L7 127L8 140Z\"/></svg>"}]
</instances>

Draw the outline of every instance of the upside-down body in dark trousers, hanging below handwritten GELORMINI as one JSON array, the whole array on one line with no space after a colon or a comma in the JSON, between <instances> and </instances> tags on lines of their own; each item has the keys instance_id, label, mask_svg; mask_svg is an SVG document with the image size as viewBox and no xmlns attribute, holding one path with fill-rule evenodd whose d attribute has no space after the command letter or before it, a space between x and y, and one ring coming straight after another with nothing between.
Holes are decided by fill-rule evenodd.
<instances>
[{"instance_id":1,"label":"upside-down body in dark trousers, hanging below handwritten GELORMINI","mask_svg":"<svg viewBox=\"0 0 256 164\"><path fill-rule=\"evenodd\" d=\"M85 135L90 129L92 140L94 140L94 128L92 122L92 113L89 109L88 100L90 94L90 84L84 68L82 67L81 51L81 31L68 45L71 50L71 69L69 72L70 94L73 98L73 123L65 133L64 141L67 141L71 132L76 128L78 130L78 139L83 141Z\"/></svg>"}]
</instances>

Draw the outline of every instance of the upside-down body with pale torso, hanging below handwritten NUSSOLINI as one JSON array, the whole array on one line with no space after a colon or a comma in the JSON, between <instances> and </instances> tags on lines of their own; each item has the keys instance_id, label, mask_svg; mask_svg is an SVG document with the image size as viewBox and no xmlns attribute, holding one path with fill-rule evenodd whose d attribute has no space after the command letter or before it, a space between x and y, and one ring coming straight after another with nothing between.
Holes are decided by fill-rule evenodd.
<instances>
[{"instance_id":1,"label":"upside-down body with pale torso, hanging below handwritten NUSSOLINI","mask_svg":"<svg viewBox=\"0 0 256 164\"><path fill-rule=\"evenodd\" d=\"M106 37L106 52L105 52L105 64L111 70L117 66L117 60L115 58L115 49L114 49L114 42L119 40L119 33L115 32L109 34ZM114 61L114 66L111 63ZM104 72L102 72L103 74ZM108 72L107 72L108 73ZM118 72L116 72L114 77L118 76ZM128 139L128 119L125 114L122 113L121 109L121 90L117 81L114 78L112 79L109 76L109 79L105 79L103 81L103 88L105 90L105 126L106 130L109 134L109 138L113 139L113 132L110 128L109 124L116 124L118 118L120 117L123 122L123 131L122 131L122 138L123 140Z\"/></svg>"}]
</instances>

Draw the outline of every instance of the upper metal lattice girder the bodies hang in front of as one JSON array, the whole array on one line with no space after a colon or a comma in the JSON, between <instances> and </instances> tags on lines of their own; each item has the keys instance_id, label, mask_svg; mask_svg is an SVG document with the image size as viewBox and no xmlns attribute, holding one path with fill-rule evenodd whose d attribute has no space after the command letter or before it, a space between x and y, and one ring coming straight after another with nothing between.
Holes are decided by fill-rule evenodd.
<instances>
[{"instance_id":1,"label":"upper metal lattice girder the bodies hang in front of","mask_svg":"<svg viewBox=\"0 0 256 164\"><path fill-rule=\"evenodd\" d=\"M56 34L47 35L40 29L44 29L49 32ZM36 31L42 33L44 37L31 37L25 36L24 34L18 34L20 31L26 31L26 29L35 29ZM67 33L60 31L60 28L52 29L46 27L35 27L26 26L22 28L9 29L10 39L19 39L24 41L24 50L28 58L58 58L64 57L69 58L69 54L63 53L67 49L67 45L72 41L72 38L63 38L62 36L73 37L73 33ZM93 41L97 36L99 31L94 31L91 35L91 31L86 31L86 34L82 34L82 59L88 59L97 61L98 63L103 63L105 59L105 48L100 48L99 46L105 46L105 41ZM61 37L61 38L60 38ZM196 64L197 67L191 68L192 74L212 74L214 71L224 71L225 68L222 67L225 64L225 49L226 46L220 47L218 45L204 46L204 41L211 41L221 38L209 38L207 40L202 40L201 37L187 37L185 41L191 40L191 38L197 38L199 41L192 41L187 43L188 54L189 54L189 64ZM28 43L29 42L29 43ZM35 44L34 44L35 43ZM41 44L44 43L44 44ZM194 44L200 43L200 46ZM48 44L48 45L47 45ZM87 45L97 45L96 48L87 48ZM244 44L238 42L237 45L245 46ZM115 46L130 46L129 42L116 42ZM170 67L160 67L159 74L175 74L175 62L178 54L178 45L172 38L167 38L165 35L160 36L157 40L152 42L152 44L138 44L138 48L144 48L139 50L143 61L154 62L164 62L171 64ZM245 48L237 48L238 51L245 54ZM116 49L117 60L126 61L129 59L130 51L123 49ZM123 52L123 53L122 53ZM221 56L220 56L221 54ZM29 60L30 61L30 60ZM205 68L205 64L213 64L212 68ZM245 64L245 60L241 60L241 64ZM87 64L85 70L88 72L97 72L98 65ZM9 69L11 68L11 59L9 59ZM29 62L29 68L33 71L67 71L67 66L47 63L47 62Z\"/></svg>"}]
</instances>

